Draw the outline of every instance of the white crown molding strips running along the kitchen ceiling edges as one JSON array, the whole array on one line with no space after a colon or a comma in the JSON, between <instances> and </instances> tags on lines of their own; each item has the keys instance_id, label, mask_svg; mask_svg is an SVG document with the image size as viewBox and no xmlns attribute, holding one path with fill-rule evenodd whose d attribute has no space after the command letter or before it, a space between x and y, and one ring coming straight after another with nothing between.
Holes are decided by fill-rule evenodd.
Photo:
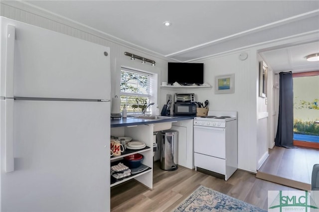
<instances>
[{"instance_id":1,"label":"white crown molding strips running along the kitchen ceiling edges","mask_svg":"<svg viewBox=\"0 0 319 212\"><path fill-rule=\"evenodd\" d=\"M152 51L150 49L144 48L142 46L135 45L135 44L130 43L128 41L122 40L122 39L117 38L115 36L112 36L112 35L110 35L108 33L102 32L102 31L97 30L97 29L95 29L93 27L90 27L88 25L82 24L80 22L74 21L72 19L69 19L69 18L61 16L61 15L58 15L58 14L53 13L51 11L45 10L43 8L40 8L38 6L35 6L35 5L31 4L31 3L25 2L23 0L1 0L0 3L8 5L8 6L12 6L14 8L18 8L20 10L32 13L34 15L38 15L38 16L40 16L42 18L45 18L45 19L48 19L48 20L52 20L52 21L67 25L69 27L81 30L83 32L86 32L86 33L89 33L91 35L97 36L97 37L99 37L101 39L104 39L104 40L107 40L109 42L118 44L118 45L123 46L123 47L127 47L129 49L132 49L132 51L139 51L141 53L145 53L145 54L151 55L153 57L157 57L159 59L162 59L162 60L165 60L165 61L168 61L168 62L203 61L203 60L215 58L215 57L218 57L218 56L221 56L221 55L230 54L232 52L238 52L238 51L247 50L249 48L256 48L256 47L260 47L260 46L271 46L272 43L280 43L280 42L283 42L283 40L286 40L286 39L293 39L293 38L294 39L296 39L296 38L298 39L298 37L311 35L313 33L315 33L315 34L317 33L316 35L318 37L318 30L316 30L316 31L307 32L307 33L303 33L303 34L298 34L298 35L294 35L294 36L289 36L289 37L285 37L285 38L280 38L280 39L276 39L276 40L266 41L266 42L262 42L262 43L256 43L256 44L249 45L249 46L243 46L243 47L240 47L240 48L231 49L231 50L228 50L228 51L224 51L224 52L220 52L220 53L216 53L216 54L212 54L212 55L207 55L207 56L200 57L200 58L194 58L194 59L187 60L187 61L180 61L180 60L175 59L173 57L174 56L178 56L178 55L183 54L183 53L194 51L196 49L200 49L200 48L211 46L211 45L214 45L214 44L217 44L217 43L221 43L221 42L225 42L225 41L228 41L228 40L232 40L232 39L235 39L235 38L238 38L238 37L241 37L241 36L245 36L245 35L248 35L248 34L251 34L251 33L254 33L254 32L266 30L266 29L273 28L273 27L276 27L276 26L279 26L279 25L284 25L286 23L291 23L291 22L294 22L294 21L297 21L297 20L313 17L313 16L316 16L316 15L319 15L319 9L313 10L313 11L310 11L310 12L306 12L306 13L302 13L302 14L299 14L299 15L295 15L295 16L292 16L292 17L289 17L289 18L285 18L285 19L282 19L282 20L279 20L279 21L275 21L275 22L272 22L272 23L269 23L269 24L265 24L265 25L262 25L262 26L259 26L259 27L255 27L255 28L252 28L252 29L248 29L248 30L245 30L245 31L242 31L242 32L239 32L239 33L235 33L235 34L232 34L232 35L220 38L220 39L216 39L216 40L209 41L209 42L206 42L206 43L203 43L203 44L200 44L200 45L196 45L196 46L193 46L193 47L190 47L190 48L187 48L187 49L183 49L183 50L171 53L171 54L162 55L162 54L160 54L158 52L155 52L155 51Z\"/></svg>"}]
</instances>

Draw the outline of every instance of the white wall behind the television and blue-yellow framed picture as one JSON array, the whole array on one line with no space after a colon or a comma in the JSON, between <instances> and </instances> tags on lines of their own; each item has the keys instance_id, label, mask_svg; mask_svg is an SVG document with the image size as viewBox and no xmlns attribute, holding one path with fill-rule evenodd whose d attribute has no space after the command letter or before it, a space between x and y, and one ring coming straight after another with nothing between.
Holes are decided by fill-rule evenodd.
<instances>
[{"instance_id":1,"label":"white wall behind the television and blue-yellow framed picture","mask_svg":"<svg viewBox=\"0 0 319 212\"><path fill-rule=\"evenodd\" d=\"M257 149L257 108L256 108L256 53L249 50L244 61L238 58L240 52L227 54L212 59L196 61L204 63L204 81L213 88L196 89L161 89L161 96L167 93L195 93L196 101L209 101L209 110L238 111L238 168L256 172ZM254 69L255 71L251 71ZM215 77L235 74L235 93L215 94ZM162 81L167 80L162 78ZM236 133L236 132L235 132Z\"/></svg>"}]
</instances>

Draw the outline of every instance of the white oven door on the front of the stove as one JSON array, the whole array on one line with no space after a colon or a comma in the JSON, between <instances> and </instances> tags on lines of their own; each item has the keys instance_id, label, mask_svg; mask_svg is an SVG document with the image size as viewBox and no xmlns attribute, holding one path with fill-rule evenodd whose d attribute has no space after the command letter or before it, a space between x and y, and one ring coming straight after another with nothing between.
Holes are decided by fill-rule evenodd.
<instances>
[{"instance_id":1,"label":"white oven door on the front of the stove","mask_svg":"<svg viewBox=\"0 0 319 212\"><path fill-rule=\"evenodd\" d=\"M225 128L194 125L194 152L225 159Z\"/></svg>"}]
</instances>

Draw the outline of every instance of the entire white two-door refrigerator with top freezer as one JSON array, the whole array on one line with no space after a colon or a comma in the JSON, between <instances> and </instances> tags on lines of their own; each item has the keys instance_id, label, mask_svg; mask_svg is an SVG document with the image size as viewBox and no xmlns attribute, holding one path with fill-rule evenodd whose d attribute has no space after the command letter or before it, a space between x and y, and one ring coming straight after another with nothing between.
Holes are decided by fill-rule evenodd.
<instances>
[{"instance_id":1,"label":"entire white two-door refrigerator with top freezer","mask_svg":"<svg viewBox=\"0 0 319 212\"><path fill-rule=\"evenodd\" d=\"M109 47L0 27L0 211L110 211Z\"/></svg>"}]
</instances>

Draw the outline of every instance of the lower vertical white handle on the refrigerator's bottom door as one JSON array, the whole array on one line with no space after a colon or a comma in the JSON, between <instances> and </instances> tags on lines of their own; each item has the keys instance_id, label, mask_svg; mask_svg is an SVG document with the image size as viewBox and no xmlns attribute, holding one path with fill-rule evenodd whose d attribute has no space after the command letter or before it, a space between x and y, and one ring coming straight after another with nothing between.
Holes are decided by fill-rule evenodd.
<instances>
[{"instance_id":1,"label":"lower vertical white handle on the refrigerator's bottom door","mask_svg":"<svg viewBox=\"0 0 319 212\"><path fill-rule=\"evenodd\" d=\"M13 99L5 99L5 172L14 171L13 155Z\"/></svg>"}]
</instances>

